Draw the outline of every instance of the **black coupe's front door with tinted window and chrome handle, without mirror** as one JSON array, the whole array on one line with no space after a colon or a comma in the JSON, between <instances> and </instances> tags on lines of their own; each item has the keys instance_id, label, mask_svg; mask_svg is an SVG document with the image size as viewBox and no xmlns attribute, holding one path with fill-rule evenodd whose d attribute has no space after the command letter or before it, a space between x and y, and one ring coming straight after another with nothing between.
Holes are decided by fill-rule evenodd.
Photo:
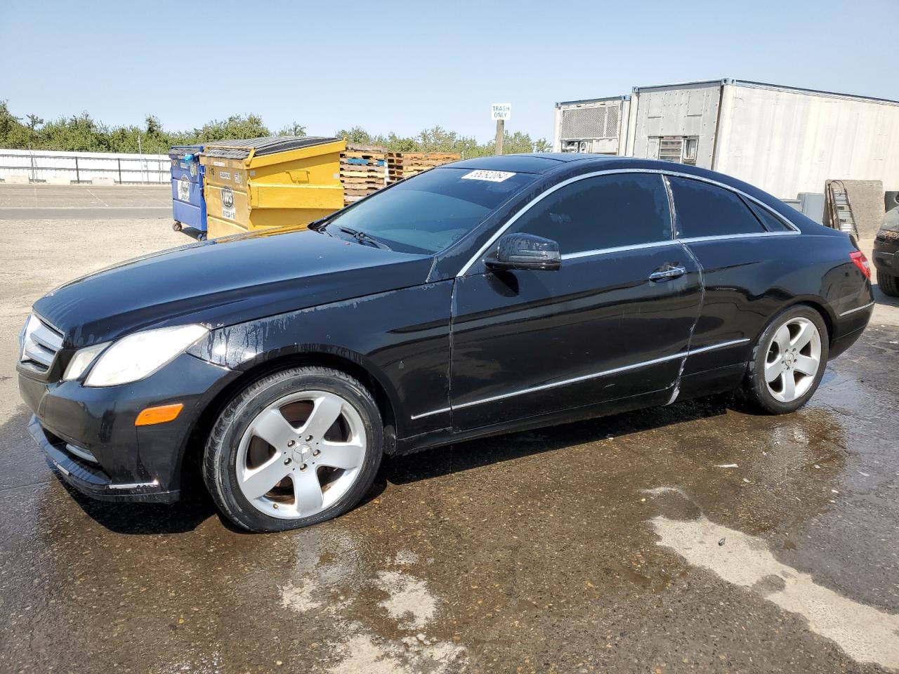
<instances>
[{"instance_id":1,"label":"black coupe's front door with tinted window and chrome handle, without mirror","mask_svg":"<svg viewBox=\"0 0 899 674\"><path fill-rule=\"evenodd\" d=\"M453 425L473 429L633 395L663 399L701 296L697 265L671 224L657 173L575 178L522 209L505 233L556 241L562 265L488 271L478 260L456 280Z\"/></svg>"}]
</instances>

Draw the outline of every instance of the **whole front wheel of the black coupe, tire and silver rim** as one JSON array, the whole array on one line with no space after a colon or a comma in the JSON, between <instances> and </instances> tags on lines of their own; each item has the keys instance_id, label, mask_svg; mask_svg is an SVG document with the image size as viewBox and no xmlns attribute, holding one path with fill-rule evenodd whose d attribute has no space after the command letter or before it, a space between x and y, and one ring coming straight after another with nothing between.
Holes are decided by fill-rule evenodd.
<instances>
[{"instance_id":1,"label":"whole front wheel of the black coupe, tire and silver rim","mask_svg":"<svg viewBox=\"0 0 899 674\"><path fill-rule=\"evenodd\" d=\"M203 478L240 527L306 527L360 501L382 444L378 406L359 381L332 368L290 368L254 382L221 412Z\"/></svg>"}]
</instances>

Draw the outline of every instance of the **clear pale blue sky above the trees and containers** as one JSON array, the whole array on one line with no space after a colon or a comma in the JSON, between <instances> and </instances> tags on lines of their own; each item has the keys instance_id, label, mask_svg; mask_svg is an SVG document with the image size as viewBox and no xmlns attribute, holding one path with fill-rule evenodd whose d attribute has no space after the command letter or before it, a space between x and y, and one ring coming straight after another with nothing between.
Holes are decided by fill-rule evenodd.
<instances>
[{"instance_id":1,"label":"clear pale blue sky above the trees and containers","mask_svg":"<svg viewBox=\"0 0 899 674\"><path fill-rule=\"evenodd\" d=\"M440 124L551 137L553 104L735 77L899 99L899 2L0 0L0 100L190 129L255 112L313 135Z\"/></svg>"}]
</instances>

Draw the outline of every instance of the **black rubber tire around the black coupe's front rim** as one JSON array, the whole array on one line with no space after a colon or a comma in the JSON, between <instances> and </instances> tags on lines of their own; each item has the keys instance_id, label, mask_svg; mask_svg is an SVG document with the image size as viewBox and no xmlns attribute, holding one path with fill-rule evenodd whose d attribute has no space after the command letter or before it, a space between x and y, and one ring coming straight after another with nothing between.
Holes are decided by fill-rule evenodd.
<instances>
[{"instance_id":1,"label":"black rubber tire around the black coupe's front rim","mask_svg":"<svg viewBox=\"0 0 899 674\"><path fill-rule=\"evenodd\" d=\"M241 492L236 475L237 449L259 412L280 397L303 390L340 395L355 408L367 436L366 456L355 483L330 507L306 518L280 519L256 509ZM264 532L307 527L343 515L362 499L378 473L383 447L383 421L378 405L365 386L332 368L289 368L250 384L218 415L203 453L203 480L222 514L240 528Z\"/></svg>"}]
</instances>

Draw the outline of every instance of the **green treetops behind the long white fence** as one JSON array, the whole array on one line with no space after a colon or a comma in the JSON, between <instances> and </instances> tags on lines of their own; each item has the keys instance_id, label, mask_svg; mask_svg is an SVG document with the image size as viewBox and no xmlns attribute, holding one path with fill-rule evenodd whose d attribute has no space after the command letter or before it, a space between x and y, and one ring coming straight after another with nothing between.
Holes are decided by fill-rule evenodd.
<instances>
[{"instance_id":1,"label":"green treetops behind the long white fence","mask_svg":"<svg viewBox=\"0 0 899 674\"><path fill-rule=\"evenodd\" d=\"M168 131L153 115L147 115L143 126L111 127L94 120L86 111L71 117L45 121L37 115L16 117L8 103L0 101L0 147L7 149L63 150L68 152L128 152L165 155L173 145L211 143L231 138L261 136L306 136L306 127L293 123L272 131L259 115L232 115L226 120L212 120L199 129ZM336 137L346 137L351 144L384 146L391 152L458 152L464 157L494 154L494 141L478 143L476 138L461 136L440 126L424 129L414 136L371 134L362 127L339 129ZM528 134L505 132L503 152L548 152L545 138L532 139Z\"/></svg>"}]
</instances>

